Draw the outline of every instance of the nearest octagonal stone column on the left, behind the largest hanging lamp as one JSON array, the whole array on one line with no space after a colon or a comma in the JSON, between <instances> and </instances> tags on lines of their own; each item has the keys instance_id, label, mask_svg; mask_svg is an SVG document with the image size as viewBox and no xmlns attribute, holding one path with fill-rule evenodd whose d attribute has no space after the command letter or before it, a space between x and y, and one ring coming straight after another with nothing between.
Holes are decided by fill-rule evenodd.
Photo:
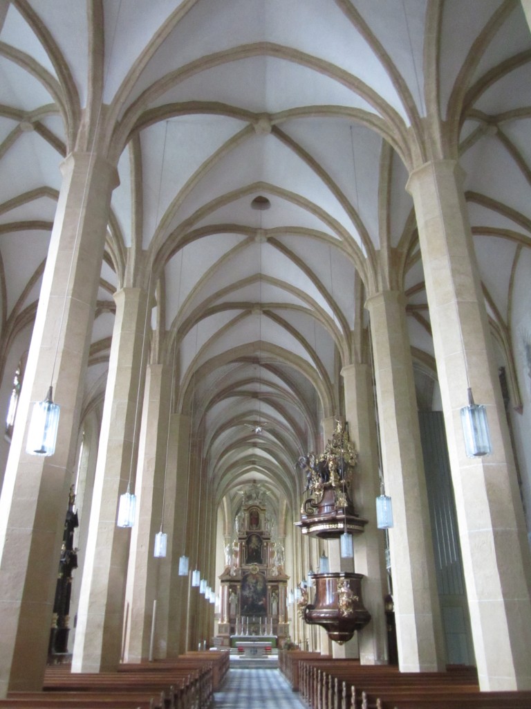
<instances>
[{"instance_id":1,"label":"nearest octagonal stone column on the left, behind the largest hanging lamp","mask_svg":"<svg viewBox=\"0 0 531 709\"><path fill-rule=\"evenodd\" d=\"M62 164L50 247L0 499L0 697L42 688L64 506L72 484L113 166L72 153ZM55 454L28 455L33 402L54 386Z\"/></svg>"}]
</instances>

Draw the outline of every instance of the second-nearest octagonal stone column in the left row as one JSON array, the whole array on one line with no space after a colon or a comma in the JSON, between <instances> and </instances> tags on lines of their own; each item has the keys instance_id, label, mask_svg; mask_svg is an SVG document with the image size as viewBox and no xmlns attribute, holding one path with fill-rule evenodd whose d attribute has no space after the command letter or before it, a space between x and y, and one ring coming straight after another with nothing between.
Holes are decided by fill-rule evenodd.
<instances>
[{"instance_id":1,"label":"second-nearest octagonal stone column in the left row","mask_svg":"<svg viewBox=\"0 0 531 709\"><path fill-rule=\"evenodd\" d=\"M122 649L131 532L116 526L116 515L119 496L127 489L134 438L139 432L135 422L137 398L142 397L143 391L139 381L143 381L141 363L147 294L138 288L122 289L115 294L115 301L116 318L79 598L73 672L115 669ZM134 486L132 476L132 492ZM125 615L127 624L130 609Z\"/></svg>"}]
</instances>

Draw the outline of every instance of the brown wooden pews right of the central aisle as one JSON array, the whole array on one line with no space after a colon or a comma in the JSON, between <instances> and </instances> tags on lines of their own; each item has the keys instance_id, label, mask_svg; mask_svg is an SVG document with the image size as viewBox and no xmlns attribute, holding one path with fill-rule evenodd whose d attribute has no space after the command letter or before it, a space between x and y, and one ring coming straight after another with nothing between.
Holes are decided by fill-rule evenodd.
<instances>
[{"instance_id":1,"label":"brown wooden pews right of the central aisle","mask_svg":"<svg viewBox=\"0 0 531 709\"><path fill-rule=\"evenodd\" d=\"M480 692L472 667L400 672L296 650L280 651L279 666L312 709L531 709L531 691Z\"/></svg>"}]
</instances>

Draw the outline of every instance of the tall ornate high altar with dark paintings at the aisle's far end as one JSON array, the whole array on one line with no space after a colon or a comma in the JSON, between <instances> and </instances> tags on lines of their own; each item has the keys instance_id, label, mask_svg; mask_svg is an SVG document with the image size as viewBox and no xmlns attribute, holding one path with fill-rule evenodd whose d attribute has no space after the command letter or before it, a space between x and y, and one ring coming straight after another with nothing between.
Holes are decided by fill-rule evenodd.
<instances>
[{"instance_id":1,"label":"tall ornate high altar with dark paintings at the aisle's far end","mask_svg":"<svg viewBox=\"0 0 531 709\"><path fill-rule=\"evenodd\" d=\"M257 484L246 489L234 540L225 547L218 637L226 646L267 642L283 647L290 635L284 549L271 537L263 496Z\"/></svg>"}]
</instances>

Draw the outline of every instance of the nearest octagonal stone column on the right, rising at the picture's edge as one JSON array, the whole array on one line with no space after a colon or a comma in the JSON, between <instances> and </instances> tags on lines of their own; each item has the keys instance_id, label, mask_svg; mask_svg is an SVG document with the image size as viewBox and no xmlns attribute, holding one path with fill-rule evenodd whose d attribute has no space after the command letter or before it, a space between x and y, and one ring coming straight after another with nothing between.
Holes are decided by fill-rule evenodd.
<instances>
[{"instance_id":1,"label":"nearest octagonal stone column on the right, rising at the picture's edge","mask_svg":"<svg viewBox=\"0 0 531 709\"><path fill-rule=\"evenodd\" d=\"M479 683L531 687L531 563L461 170L452 160L411 174L445 415ZM467 386L486 406L493 453L469 459L459 409Z\"/></svg>"}]
</instances>

